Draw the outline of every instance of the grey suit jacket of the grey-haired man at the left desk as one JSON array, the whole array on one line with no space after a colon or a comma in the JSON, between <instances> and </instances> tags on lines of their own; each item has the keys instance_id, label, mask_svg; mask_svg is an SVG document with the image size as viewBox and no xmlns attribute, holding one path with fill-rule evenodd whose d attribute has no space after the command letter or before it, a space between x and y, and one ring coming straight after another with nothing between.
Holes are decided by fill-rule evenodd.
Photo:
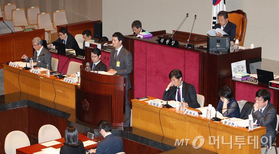
<instances>
[{"instance_id":1,"label":"grey suit jacket of the grey-haired man at the left desk","mask_svg":"<svg viewBox=\"0 0 279 154\"><path fill-rule=\"evenodd\" d=\"M42 48L42 51L40 52L40 55L44 54L43 56L39 56L38 57L38 61L37 61L37 51L34 51L34 55L33 55L33 62L37 62L37 66L38 67L43 67L43 68L46 68L46 65L48 64L49 66L49 69L52 70L51 68L51 54L49 52L48 49L46 48ZM30 60L30 57L28 57L27 59L25 59L24 61L29 61Z\"/></svg>"}]
</instances>

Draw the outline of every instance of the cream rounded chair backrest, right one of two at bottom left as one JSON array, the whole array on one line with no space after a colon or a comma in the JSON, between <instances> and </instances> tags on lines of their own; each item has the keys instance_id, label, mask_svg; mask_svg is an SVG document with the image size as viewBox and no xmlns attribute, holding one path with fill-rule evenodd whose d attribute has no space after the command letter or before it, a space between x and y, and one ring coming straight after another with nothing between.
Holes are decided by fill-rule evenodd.
<instances>
[{"instance_id":1,"label":"cream rounded chair backrest, right one of two at bottom left","mask_svg":"<svg viewBox=\"0 0 279 154\"><path fill-rule=\"evenodd\" d=\"M61 134L53 125L44 125L39 129L38 142L48 142L51 140L61 139Z\"/></svg>"}]
</instances>

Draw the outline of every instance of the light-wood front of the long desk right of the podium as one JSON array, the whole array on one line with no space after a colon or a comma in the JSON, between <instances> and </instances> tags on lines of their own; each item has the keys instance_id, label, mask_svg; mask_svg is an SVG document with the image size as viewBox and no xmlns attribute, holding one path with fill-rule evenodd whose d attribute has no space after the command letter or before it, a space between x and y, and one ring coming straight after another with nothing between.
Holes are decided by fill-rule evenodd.
<instances>
[{"instance_id":1,"label":"light-wood front of the long desk right of the podium","mask_svg":"<svg viewBox=\"0 0 279 154\"><path fill-rule=\"evenodd\" d=\"M149 99L154 99L149 97ZM151 132L171 139L186 139L188 144L193 145L193 140L202 136L205 140L202 148L217 152L219 154L260 154L261 136L266 133L266 128L261 127L254 131L249 131L246 128L230 127L223 125L220 122L209 121L202 117L193 117L180 114L174 108L158 108L148 105L148 103L139 100L132 100L133 104L133 128ZM162 128L162 129L161 129ZM211 138L210 138L211 137ZM258 142L252 142L252 139L257 139ZM242 145L241 149L236 140L243 139L246 145ZM249 140L249 138L252 138ZM230 142L231 141L231 142ZM251 145L247 145L250 141ZM222 144L230 143L230 144ZM212 143L212 144L211 144ZM215 143L215 146L213 145ZM199 143L198 143L199 144ZM198 145L197 144L197 145ZM218 149L219 145L219 149ZM232 149L231 147L232 146ZM258 149L254 149L254 146ZM215 150L216 148L216 150Z\"/></svg>"}]
</instances>

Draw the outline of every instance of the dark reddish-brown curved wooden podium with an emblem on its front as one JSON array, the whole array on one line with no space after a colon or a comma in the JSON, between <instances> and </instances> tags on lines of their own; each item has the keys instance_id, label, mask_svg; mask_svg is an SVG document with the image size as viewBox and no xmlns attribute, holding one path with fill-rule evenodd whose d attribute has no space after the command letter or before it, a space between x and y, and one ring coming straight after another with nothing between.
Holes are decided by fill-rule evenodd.
<instances>
[{"instance_id":1,"label":"dark reddish-brown curved wooden podium with an emblem on its front","mask_svg":"<svg viewBox=\"0 0 279 154\"><path fill-rule=\"evenodd\" d=\"M77 119L95 126L100 120L123 126L124 76L88 72L81 65L80 78L80 87L75 87Z\"/></svg>"}]
</instances>

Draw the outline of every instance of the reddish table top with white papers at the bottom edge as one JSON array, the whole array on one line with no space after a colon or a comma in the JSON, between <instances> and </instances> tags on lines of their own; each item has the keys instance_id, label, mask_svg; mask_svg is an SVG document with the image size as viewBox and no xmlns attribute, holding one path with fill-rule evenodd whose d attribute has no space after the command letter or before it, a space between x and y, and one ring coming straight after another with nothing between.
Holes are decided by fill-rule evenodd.
<instances>
[{"instance_id":1,"label":"reddish table top with white papers at the bottom edge","mask_svg":"<svg viewBox=\"0 0 279 154\"><path fill-rule=\"evenodd\" d=\"M88 140L91 140L91 139L87 138L87 136L85 136L83 134L79 134L79 140L84 142L84 141L88 141ZM61 139L57 139L55 141L60 142L61 144L50 146L50 147L55 148L55 149L59 149L64 145L63 143L65 142L65 139L61 138ZM91 141L96 141L96 140L91 140ZM87 147L85 147L85 150L90 150L92 148L96 148L97 145L98 144L87 146ZM28 147L23 147L23 148L16 149L16 154L33 154L33 153L36 153L36 152L40 152L41 149L45 149L45 148L48 148L48 147L45 147L41 144L31 145L31 146L28 146Z\"/></svg>"}]
</instances>

